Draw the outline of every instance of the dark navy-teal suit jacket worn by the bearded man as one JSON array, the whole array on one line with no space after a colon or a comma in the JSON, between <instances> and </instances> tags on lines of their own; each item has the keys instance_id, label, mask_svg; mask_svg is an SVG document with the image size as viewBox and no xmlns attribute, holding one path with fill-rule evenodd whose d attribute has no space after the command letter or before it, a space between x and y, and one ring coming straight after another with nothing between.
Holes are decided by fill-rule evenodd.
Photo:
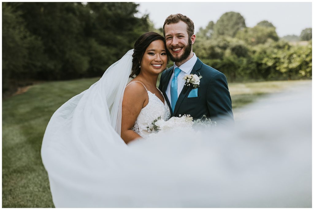
<instances>
[{"instance_id":1,"label":"dark navy-teal suit jacket worn by the bearded man","mask_svg":"<svg viewBox=\"0 0 314 210\"><path fill-rule=\"evenodd\" d=\"M228 89L227 78L225 74L204 64L199 58L197 59L191 74L203 76L200 79L198 87L198 96L188 98L193 86L184 86L175 109L172 113L171 105L165 94L170 77L173 73L173 66L166 69L160 77L159 89L164 93L165 99L170 107L171 116L189 114L193 120L200 119L203 115L219 124L229 124L233 122L233 113L231 106L231 97Z\"/></svg>"}]
</instances>

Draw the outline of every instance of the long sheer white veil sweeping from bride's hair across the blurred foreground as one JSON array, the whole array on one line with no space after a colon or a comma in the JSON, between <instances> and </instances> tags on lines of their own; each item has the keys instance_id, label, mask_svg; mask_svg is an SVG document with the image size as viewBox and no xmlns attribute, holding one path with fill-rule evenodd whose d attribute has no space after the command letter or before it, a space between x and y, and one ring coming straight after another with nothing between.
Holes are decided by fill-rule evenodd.
<instances>
[{"instance_id":1,"label":"long sheer white veil sweeping from bride's hair across the blurred foreground","mask_svg":"<svg viewBox=\"0 0 314 210\"><path fill-rule=\"evenodd\" d=\"M252 106L236 129L126 145L119 120L132 53L52 115L41 157L55 207L311 207L311 87Z\"/></svg>"}]
</instances>

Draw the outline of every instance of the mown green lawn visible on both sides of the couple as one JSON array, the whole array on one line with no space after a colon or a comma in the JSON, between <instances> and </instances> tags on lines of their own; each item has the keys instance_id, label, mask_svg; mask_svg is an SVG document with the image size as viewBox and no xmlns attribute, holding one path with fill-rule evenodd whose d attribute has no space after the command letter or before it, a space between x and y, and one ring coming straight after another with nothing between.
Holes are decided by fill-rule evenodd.
<instances>
[{"instance_id":1,"label":"mown green lawn visible on both sides of the couple","mask_svg":"<svg viewBox=\"0 0 314 210\"><path fill-rule=\"evenodd\" d=\"M41 142L51 115L99 78L47 82L2 102L2 207L54 207ZM234 112L257 98L311 82L273 81L229 84Z\"/></svg>"}]
</instances>

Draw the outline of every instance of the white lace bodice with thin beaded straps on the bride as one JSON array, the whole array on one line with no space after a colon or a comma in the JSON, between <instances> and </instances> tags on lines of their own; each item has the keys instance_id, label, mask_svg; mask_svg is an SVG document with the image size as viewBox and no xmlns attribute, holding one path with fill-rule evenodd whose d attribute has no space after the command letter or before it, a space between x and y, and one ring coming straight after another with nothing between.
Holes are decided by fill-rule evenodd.
<instances>
[{"instance_id":1,"label":"white lace bodice with thin beaded straps on the bride","mask_svg":"<svg viewBox=\"0 0 314 210\"><path fill-rule=\"evenodd\" d=\"M145 85L140 81L133 82L139 82L145 87ZM128 85L133 82L130 82ZM145 89L147 90L146 87ZM161 91L160 93L164 97ZM140 111L137 119L135 120L134 126L132 127L132 130L143 138L146 138L149 134L151 134L151 131L147 131L147 126L151 125L155 119L160 116L161 119L166 121L169 120L171 116L170 109L165 100L165 97L165 102L163 103L154 93L150 92L149 90L147 90L147 94L148 104Z\"/></svg>"}]
</instances>

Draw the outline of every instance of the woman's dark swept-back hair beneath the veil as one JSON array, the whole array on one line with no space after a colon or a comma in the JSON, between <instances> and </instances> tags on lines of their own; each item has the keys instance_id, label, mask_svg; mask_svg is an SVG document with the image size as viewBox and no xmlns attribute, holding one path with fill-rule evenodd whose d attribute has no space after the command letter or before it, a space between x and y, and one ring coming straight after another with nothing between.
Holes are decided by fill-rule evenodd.
<instances>
[{"instance_id":1,"label":"woman's dark swept-back hair beneath the veil","mask_svg":"<svg viewBox=\"0 0 314 210\"><path fill-rule=\"evenodd\" d=\"M143 55L150 45L150 43L156 41L156 40L162 40L165 43L165 38L161 36L159 33L155 32L147 32L141 35L134 44L134 52L133 52L133 59L132 59L132 71L129 77L134 78L134 76L137 76L140 69L140 63L143 58ZM168 59L169 60L169 59Z\"/></svg>"}]
</instances>

